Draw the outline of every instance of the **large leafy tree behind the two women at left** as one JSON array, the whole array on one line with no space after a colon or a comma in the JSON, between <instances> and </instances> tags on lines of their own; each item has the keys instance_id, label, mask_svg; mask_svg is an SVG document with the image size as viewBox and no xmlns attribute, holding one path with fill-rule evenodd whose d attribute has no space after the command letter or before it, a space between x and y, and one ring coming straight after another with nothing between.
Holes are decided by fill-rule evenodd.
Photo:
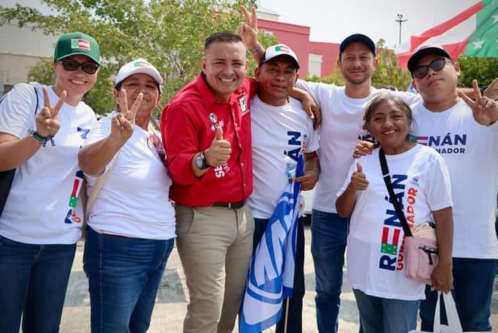
<instances>
[{"instance_id":1,"label":"large leafy tree behind the two women at left","mask_svg":"<svg viewBox=\"0 0 498 333\"><path fill-rule=\"evenodd\" d=\"M240 6L254 6L255 0L42 0L53 15L35 8L0 6L0 25L32 24L47 35L82 31L92 35L101 47L103 66L96 85L83 98L97 113L112 111L113 77L119 67L134 58L146 58L165 79L164 106L200 71L204 39L216 31L236 31L242 21ZM264 46L276 40L262 33ZM251 56L249 73L256 65ZM53 82L50 60L40 60L28 74L30 80Z\"/></svg>"}]
</instances>

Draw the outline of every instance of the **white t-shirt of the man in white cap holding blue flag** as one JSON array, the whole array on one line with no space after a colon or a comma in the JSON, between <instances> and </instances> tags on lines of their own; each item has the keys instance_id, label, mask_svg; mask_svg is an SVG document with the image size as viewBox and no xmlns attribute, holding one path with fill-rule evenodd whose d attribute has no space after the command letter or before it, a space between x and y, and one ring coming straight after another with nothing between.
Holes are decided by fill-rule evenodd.
<instances>
[{"instance_id":1,"label":"white t-shirt of the man in white cap holding blue flag","mask_svg":"<svg viewBox=\"0 0 498 333\"><path fill-rule=\"evenodd\" d=\"M297 163L303 147L304 152L315 152L318 135L297 99L290 98L285 106L270 106L256 95L251 114L254 190L249 206L255 218L271 218L289 181L285 156ZM304 204L302 197L299 202Z\"/></svg>"}]
</instances>

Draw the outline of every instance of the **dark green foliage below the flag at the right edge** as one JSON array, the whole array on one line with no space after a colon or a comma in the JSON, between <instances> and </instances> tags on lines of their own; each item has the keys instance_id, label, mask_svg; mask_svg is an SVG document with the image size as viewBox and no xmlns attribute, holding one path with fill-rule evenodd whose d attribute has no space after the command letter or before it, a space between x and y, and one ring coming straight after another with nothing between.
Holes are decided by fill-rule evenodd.
<instances>
[{"instance_id":1,"label":"dark green foliage below the flag at the right edge","mask_svg":"<svg viewBox=\"0 0 498 333\"><path fill-rule=\"evenodd\" d=\"M458 81L467 88L472 87L472 79L476 79L479 87L483 87L498 76L498 58L459 56L457 60L461 70Z\"/></svg>"}]
</instances>

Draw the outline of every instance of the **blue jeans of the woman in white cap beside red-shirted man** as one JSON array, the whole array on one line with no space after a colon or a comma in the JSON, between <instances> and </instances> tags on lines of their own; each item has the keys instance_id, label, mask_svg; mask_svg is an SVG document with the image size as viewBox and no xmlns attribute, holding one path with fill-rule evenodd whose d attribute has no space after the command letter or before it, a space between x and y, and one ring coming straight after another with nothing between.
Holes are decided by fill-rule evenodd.
<instances>
[{"instance_id":1,"label":"blue jeans of the woman in white cap beside red-shirted man","mask_svg":"<svg viewBox=\"0 0 498 333\"><path fill-rule=\"evenodd\" d=\"M153 241L88 228L85 273L93 333L147 331L173 245L173 238Z\"/></svg>"}]
</instances>

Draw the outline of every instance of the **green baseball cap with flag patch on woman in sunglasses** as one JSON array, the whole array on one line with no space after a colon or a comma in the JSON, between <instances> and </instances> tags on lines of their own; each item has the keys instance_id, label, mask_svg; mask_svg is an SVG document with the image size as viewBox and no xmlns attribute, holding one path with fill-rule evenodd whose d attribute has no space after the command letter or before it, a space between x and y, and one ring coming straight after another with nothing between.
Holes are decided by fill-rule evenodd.
<instances>
[{"instance_id":1,"label":"green baseball cap with flag patch on woman in sunglasses","mask_svg":"<svg viewBox=\"0 0 498 333\"><path fill-rule=\"evenodd\" d=\"M53 61L63 60L76 54L88 56L101 65L99 44L93 37L79 31L60 36L56 49L53 51Z\"/></svg>"}]
</instances>

